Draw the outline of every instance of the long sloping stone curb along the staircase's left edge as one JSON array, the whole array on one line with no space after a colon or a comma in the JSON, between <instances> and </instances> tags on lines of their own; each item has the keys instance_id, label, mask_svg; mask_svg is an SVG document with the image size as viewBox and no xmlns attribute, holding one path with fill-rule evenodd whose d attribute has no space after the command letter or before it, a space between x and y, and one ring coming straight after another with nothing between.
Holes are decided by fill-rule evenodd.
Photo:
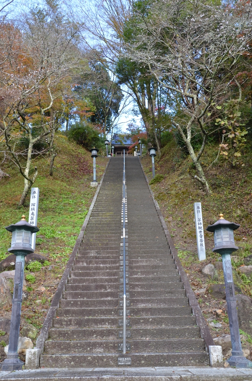
<instances>
[{"instance_id":1,"label":"long sloping stone curb along the staircase's left edge","mask_svg":"<svg viewBox=\"0 0 252 381\"><path fill-rule=\"evenodd\" d=\"M48 310L48 313L46 315L43 327L41 328L40 335L37 338L36 346L33 349L28 349L26 352L26 364L25 364L26 369L36 369L39 367L40 355L44 351L44 344L45 344L46 339L48 339L49 329L51 328L51 326L53 324L53 318L56 316L56 311L59 308L59 303L60 303L60 300L62 298L62 293L65 290L65 285L67 284L67 280L69 278L70 271L72 270L72 265L74 263L75 257L78 254L78 250L80 248L80 245L81 245L81 242L83 239L83 235L85 233L85 230L86 230L86 227L88 225L88 221L89 221L89 218L91 216L94 204L95 204L97 196L99 194L100 187L102 185L102 181L103 181L104 176L107 172L107 168L108 168L108 165L110 163L110 159L108 160L104 174L102 175L102 178L100 179L100 184L96 189L96 193L95 193L94 198L92 200L92 203L89 207L88 214L86 215L85 221L84 221L84 223L81 227L81 230L80 230L80 234L78 235L78 238L77 238L75 245L73 247L73 251L70 255L69 261L67 262L67 265L65 267L65 271L64 271L62 278L59 282L56 293L54 294L54 297L53 297L53 300L51 302L51 306Z\"/></svg>"}]
</instances>

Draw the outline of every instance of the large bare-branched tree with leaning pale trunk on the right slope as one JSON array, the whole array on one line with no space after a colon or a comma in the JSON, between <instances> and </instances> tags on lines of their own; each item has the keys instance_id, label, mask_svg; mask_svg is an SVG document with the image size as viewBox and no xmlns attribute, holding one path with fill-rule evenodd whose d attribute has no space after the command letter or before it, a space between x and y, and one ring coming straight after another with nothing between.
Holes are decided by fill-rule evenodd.
<instances>
[{"instance_id":1,"label":"large bare-branched tree with leaning pale trunk on the right slope","mask_svg":"<svg viewBox=\"0 0 252 381\"><path fill-rule=\"evenodd\" d=\"M211 193L199 159L214 112L230 95L239 57L251 40L251 2L226 7L172 0L146 7L142 2L129 23L139 32L124 51L170 94L172 124L195 165L195 177ZM203 138L199 152L191 144L193 130Z\"/></svg>"}]
</instances>

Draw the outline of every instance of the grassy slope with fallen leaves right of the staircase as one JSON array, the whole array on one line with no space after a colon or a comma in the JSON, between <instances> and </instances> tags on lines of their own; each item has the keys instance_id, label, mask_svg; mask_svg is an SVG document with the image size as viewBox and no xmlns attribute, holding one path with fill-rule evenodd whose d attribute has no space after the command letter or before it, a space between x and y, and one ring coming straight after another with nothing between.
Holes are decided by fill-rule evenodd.
<instances>
[{"instance_id":1,"label":"grassy slope with fallen leaves right of the staircase","mask_svg":"<svg viewBox=\"0 0 252 381\"><path fill-rule=\"evenodd\" d=\"M211 283L223 283L206 280L201 274L201 269L208 263L214 264L219 255L212 253L211 250L214 247L213 234L205 231L207 259L202 262L198 261L193 212L194 202L201 202L204 229L208 224L217 221L221 212L227 220L241 224L239 230L234 232L236 244L241 247L241 250L234 254L239 256L239 263L232 262L236 269L243 264L244 256L251 254L251 147L247 148L247 153L242 157L241 164L236 168L232 167L227 160L220 158L216 165L212 165L207 170L215 160L218 149L219 146L217 145L208 146L201 157L204 171L213 191L212 196L206 195L201 189L201 184L194 179L195 170L191 165L190 157L184 155L173 140L164 147L161 158L156 160L155 163L156 174L163 174L164 179L153 184L152 189L194 290L199 290L201 287L208 286ZM152 164L150 157L143 157L142 164L145 173L151 179ZM239 271L236 270L236 272L237 275L241 275ZM250 279L245 277L243 280L239 277L237 279L242 292L252 296L252 282L250 282ZM215 310L223 309L225 303L225 301L213 299L207 292L205 294L196 294L196 297L206 319L215 317ZM224 319L216 317L216 320L222 323L222 328L209 327L213 337L228 333L227 317L224 317Z\"/></svg>"}]
</instances>

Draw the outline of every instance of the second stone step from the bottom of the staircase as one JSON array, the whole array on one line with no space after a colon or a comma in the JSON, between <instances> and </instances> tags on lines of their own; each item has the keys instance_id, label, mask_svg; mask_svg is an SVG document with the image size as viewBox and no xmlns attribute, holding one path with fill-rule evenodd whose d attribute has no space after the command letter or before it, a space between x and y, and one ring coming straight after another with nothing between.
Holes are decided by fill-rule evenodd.
<instances>
[{"instance_id":1,"label":"second stone step from the bottom of the staircase","mask_svg":"<svg viewBox=\"0 0 252 381\"><path fill-rule=\"evenodd\" d=\"M119 342L120 343L120 342ZM132 352L204 352L202 339L173 339L173 340L128 340ZM74 341L47 341L44 348L45 354L69 353L116 353L118 340L74 340Z\"/></svg>"}]
</instances>

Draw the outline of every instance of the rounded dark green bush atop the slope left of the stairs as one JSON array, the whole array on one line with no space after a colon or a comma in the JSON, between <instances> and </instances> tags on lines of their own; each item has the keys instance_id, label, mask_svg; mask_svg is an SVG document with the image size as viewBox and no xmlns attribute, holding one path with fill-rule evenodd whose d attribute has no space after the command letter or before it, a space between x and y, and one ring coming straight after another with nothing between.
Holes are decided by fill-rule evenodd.
<instances>
[{"instance_id":1,"label":"rounded dark green bush atop the slope left of the stairs","mask_svg":"<svg viewBox=\"0 0 252 381\"><path fill-rule=\"evenodd\" d=\"M94 130L91 125L83 122L76 122L70 127L68 138L86 148L92 148L94 146L99 148L103 143L99 136L99 131Z\"/></svg>"}]
</instances>

